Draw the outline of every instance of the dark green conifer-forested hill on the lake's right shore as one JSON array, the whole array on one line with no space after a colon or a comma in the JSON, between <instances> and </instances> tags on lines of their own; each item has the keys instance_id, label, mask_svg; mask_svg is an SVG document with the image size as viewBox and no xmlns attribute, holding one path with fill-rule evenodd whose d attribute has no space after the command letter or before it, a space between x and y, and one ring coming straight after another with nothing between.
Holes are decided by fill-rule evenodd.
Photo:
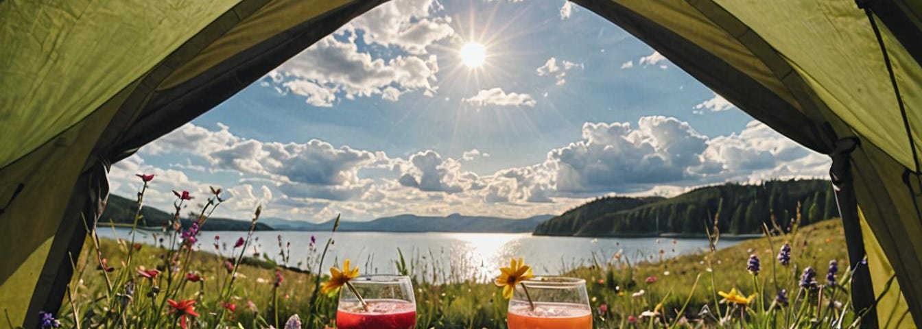
<instances>
[{"instance_id":1,"label":"dark green conifer-forested hill on the lake's right shore","mask_svg":"<svg viewBox=\"0 0 922 329\"><path fill-rule=\"evenodd\" d=\"M801 225L838 216L829 181L770 181L757 185L726 183L707 186L668 199L603 197L573 208L538 225L535 235L632 236L657 234L703 234L705 225L723 233L762 231L774 214L786 228L797 216ZM706 224L705 224L706 223Z\"/></svg>"}]
</instances>

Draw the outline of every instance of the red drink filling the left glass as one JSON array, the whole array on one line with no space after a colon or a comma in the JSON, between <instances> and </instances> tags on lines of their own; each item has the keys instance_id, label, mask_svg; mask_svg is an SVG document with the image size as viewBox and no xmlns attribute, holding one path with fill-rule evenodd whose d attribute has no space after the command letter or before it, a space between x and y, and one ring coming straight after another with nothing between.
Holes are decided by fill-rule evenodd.
<instances>
[{"instance_id":1,"label":"red drink filling the left glass","mask_svg":"<svg viewBox=\"0 0 922 329\"><path fill-rule=\"evenodd\" d=\"M416 305L405 300L366 300L368 311L358 303L339 304L339 329L412 329L416 326Z\"/></svg>"}]
</instances>

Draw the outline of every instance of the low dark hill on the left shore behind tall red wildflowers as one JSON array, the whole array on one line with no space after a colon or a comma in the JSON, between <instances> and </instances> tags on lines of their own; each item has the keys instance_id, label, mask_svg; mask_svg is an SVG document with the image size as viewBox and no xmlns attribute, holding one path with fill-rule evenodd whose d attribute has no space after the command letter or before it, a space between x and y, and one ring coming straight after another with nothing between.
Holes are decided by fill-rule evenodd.
<instances>
[{"instance_id":1,"label":"low dark hill on the left shore behind tall red wildflowers","mask_svg":"<svg viewBox=\"0 0 922 329\"><path fill-rule=\"evenodd\" d=\"M100 225L112 221L120 225L131 225L134 223L137 206L135 200L127 199L123 196L110 194L109 201L106 204L105 211L100 217ZM169 222L173 216L163 210L144 206L141 208L143 219L138 223L142 227L160 227ZM182 219L183 226L192 224L191 219ZM249 220L236 220L231 218L209 217L208 221L202 227L203 230L248 230L250 229ZM266 223L256 223L256 230L272 229Z\"/></svg>"}]
</instances>

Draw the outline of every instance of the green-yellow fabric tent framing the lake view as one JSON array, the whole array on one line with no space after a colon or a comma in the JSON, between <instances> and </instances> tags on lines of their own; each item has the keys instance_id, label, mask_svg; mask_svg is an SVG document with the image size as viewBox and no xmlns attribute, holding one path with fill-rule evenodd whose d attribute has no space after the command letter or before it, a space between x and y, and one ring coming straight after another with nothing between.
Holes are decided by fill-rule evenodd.
<instances>
[{"instance_id":1,"label":"green-yellow fabric tent framing the lake view","mask_svg":"<svg viewBox=\"0 0 922 329\"><path fill-rule=\"evenodd\" d=\"M0 314L58 309L112 162L383 2L0 2ZM573 2L830 155L856 308L922 326L922 1Z\"/></svg>"}]
</instances>

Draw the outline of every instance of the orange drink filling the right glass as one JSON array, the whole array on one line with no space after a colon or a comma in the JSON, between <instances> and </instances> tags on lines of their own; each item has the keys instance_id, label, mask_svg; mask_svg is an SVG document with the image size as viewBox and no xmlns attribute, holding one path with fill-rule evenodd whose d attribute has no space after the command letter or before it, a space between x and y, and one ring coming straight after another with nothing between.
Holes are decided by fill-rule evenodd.
<instances>
[{"instance_id":1,"label":"orange drink filling the right glass","mask_svg":"<svg viewBox=\"0 0 922 329\"><path fill-rule=\"evenodd\" d=\"M509 329L592 329L592 311L574 303L527 302L509 305Z\"/></svg>"}]
</instances>

